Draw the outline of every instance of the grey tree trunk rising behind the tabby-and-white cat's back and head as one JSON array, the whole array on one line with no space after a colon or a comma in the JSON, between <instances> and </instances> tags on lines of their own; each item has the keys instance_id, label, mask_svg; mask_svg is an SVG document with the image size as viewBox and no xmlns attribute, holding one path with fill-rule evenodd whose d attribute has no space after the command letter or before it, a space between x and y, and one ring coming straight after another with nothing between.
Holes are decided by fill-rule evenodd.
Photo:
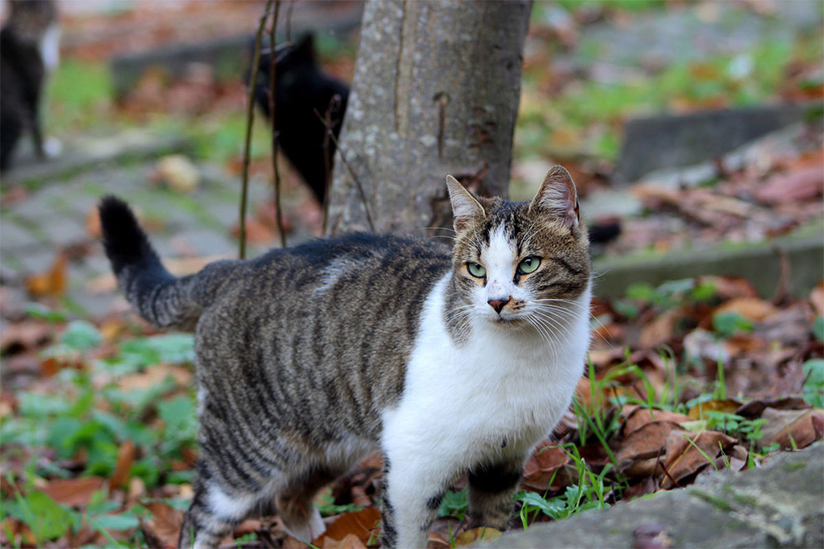
<instances>
[{"instance_id":1,"label":"grey tree trunk rising behind the tabby-and-white cat's back and head","mask_svg":"<svg viewBox=\"0 0 824 549\"><path fill-rule=\"evenodd\" d=\"M527 0L367 2L327 233L449 226L447 174L506 196L530 11Z\"/></svg>"}]
</instances>

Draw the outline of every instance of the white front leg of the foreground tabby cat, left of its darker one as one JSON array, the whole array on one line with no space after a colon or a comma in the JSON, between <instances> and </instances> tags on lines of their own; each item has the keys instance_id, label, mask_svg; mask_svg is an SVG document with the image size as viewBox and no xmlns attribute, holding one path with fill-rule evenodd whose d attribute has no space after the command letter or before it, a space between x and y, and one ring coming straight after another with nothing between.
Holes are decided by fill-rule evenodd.
<instances>
[{"instance_id":1,"label":"white front leg of the foreground tabby cat, left of its darker one","mask_svg":"<svg viewBox=\"0 0 824 549\"><path fill-rule=\"evenodd\" d=\"M429 528L441 505L447 481L445 475L432 470L432 463L426 463L425 457L423 454L416 458L384 454L381 521L384 549L426 547Z\"/></svg>"}]
</instances>

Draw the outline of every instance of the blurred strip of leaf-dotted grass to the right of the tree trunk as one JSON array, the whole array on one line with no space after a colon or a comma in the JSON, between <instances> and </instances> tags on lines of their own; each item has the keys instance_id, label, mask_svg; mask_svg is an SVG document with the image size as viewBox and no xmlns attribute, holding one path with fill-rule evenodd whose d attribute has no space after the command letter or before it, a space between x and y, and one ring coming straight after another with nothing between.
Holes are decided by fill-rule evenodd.
<instances>
[{"instance_id":1,"label":"blurred strip of leaf-dotted grass to the right of the tree trunk","mask_svg":"<svg viewBox=\"0 0 824 549\"><path fill-rule=\"evenodd\" d=\"M646 2L629 3L640 7ZM629 117L678 112L687 105L742 107L777 100L789 63L820 59L821 40L799 35L791 43L767 41L741 54L672 63L658 73L639 73L631 81L575 81L557 96L537 89L546 69L532 67L523 78L528 99L522 101L517 120L517 156L583 153L615 160L620 124Z\"/></svg>"}]
</instances>

